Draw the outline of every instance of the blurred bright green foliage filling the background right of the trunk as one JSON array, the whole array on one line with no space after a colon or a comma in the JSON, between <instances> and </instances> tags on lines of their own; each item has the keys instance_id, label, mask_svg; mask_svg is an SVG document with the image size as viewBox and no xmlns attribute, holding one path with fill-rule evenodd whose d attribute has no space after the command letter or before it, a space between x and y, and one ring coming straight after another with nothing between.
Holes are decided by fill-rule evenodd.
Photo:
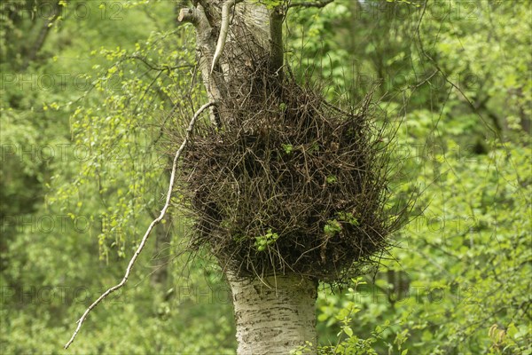
<instances>
[{"instance_id":1,"label":"blurred bright green foliage filling the background right of the trunk","mask_svg":"<svg viewBox=\"0 0 532 355\"><path fill-rule=\"evenodd\" d=\"M403 122L403 177L388 187L395 199L423 191L418 217L358 288L353 334L375 340L377 353L530 353L528 4L364 3L337 1L289 23L301 31L292 48L304 43L289 60L309 65L301 77L354 101L380 82L383 117ZM335 315L348 297L323 295L318 331L329 346L347 337Z\"/></svg>"}]
</instances>

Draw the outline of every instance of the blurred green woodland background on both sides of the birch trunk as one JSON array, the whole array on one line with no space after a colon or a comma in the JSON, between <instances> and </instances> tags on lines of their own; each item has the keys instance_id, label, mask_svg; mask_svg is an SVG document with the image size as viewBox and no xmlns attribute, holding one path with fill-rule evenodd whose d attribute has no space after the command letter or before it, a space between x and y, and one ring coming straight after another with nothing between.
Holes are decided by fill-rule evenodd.
<instances>
[{"instance_id":1,"label":"blurred green woodland background on both sides of the birch trunk","mask_svg":"<svg viewBox=\"0 0 532 355\"><path fill-rule=\"evenodd\" d=\"M160 209L175 113L205 96L183 4L1 4L2 353L59 353ZM289 10L294 75L353 105L379 83L382 120L402 123L389 188L423 191L379 270L320 287L324 352L532 353L531 15L526 0ZM229 291L183 253L187 229L167 216L70 351L234 353Z\"/></svg>"}]
</instances>

